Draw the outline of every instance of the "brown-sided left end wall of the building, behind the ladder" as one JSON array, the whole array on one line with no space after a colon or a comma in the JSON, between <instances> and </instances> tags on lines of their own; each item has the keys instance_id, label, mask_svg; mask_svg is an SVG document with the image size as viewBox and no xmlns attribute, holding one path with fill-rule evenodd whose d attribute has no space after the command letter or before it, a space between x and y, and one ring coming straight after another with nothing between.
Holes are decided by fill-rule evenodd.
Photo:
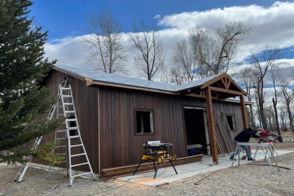
<instances>
[{"instance_id":1,"label":"brown-sided left end wall of the building, behind the ladder","mask_svg":"<svg viewBox=\"0 0 294 196\"><path fill-rule=\"evenodd\" d=\"M57 96L58 85L65 78L64 73L51 70L49 76L45 79L44 85L52 88L52 96ZM99 157L98 157L98 88L86 87L86 82L74 77L70 77L68 84L72 86L73 99L77 112L77 120L80 126L81 137L86 148L94 172L99 172ZM47 118L47 115L42 115ZM54 133L46 135L42 143L53 141ZM75 144L77 141L73 141ZM42 144L41 144L42 145ZM78 154L81 147L73 147L72 154ZM57 152L57 151L55 151ZM64 152L59 150L60 153ZM34 160L36 163L46 164L40 160ZM72 164L85 162L84 156L72 158ZM66 167L63 163L61 167ZM74 170L89 171L88 166L79 166Z\"/></svg>"}]
</instances>

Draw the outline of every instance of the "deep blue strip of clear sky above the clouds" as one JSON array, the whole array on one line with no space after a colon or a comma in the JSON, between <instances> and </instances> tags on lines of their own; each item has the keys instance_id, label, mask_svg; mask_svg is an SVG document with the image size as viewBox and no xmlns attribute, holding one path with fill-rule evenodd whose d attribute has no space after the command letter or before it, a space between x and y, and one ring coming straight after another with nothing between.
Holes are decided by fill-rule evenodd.
<instances>
[{"instance_id":1,"label":"deep blue strip of clear sky above the clouds","mask_svg":"<svg viewBox=\"0 0 294 196\"><path fill-rule=\"evenodd\" d=\"M49 40L66 36L83 35L84 13L99 10L108 4L121 21L123 31L130 31L131 19L153 20L155 15L203 11L238 5L257 4L270 6L275 0L35 0L31 16L37 25L49 30Z\"/></svg>"}]
</instances>

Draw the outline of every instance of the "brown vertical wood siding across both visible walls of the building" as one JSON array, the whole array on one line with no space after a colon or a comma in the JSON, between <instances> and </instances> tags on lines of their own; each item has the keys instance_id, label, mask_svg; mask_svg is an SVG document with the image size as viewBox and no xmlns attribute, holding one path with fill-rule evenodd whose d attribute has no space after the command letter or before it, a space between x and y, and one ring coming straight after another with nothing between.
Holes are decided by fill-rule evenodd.
<instances>
[{"instance_id":1,"label":"brown vertical wood siding across both visible walls of the building","mask_svg":"<svg viewBox=\"0 0 294 196\"><path fill-rule=\"evenodd\" d=\"M57 85L64 77L64 73L52 70L44 81L44 85L52 86L53 96L57 95ZM68 84L72 85L82 139L94 172L99 172L99 139L101 142L101 169L139 163L144 152L142 144L146 141L160 140L164 143L172 143L172 152L177 157L188 156L183 107L205 108L205 99L109 87L86 87L84 81L73 77L70 78ZM98 94L100 108L98 108ZM136 135L134 110L140 108L152 109L154 134ZM98 110L100 117L98 117ZM213 110L215 119L218 113L225 128L226 124L221 113L235 115L237 131L233 132L234 135L243 129L240 104L213 101ZM47 116L42 115L42 117ZM99 136L98 123L100 123ZM195 126L197 127L197 124ZM216 132L220 137L218 128ZM54 134L49 134L44 137L42 143L53 139ZM221 143L224 146L222 141ZM78 153L77 150L72 152ZM73 164L84 161L78 160L78 157L75 158ZM34 160L34 162L44 164L39 160ZM88 170L87 166L75 169Z\"/></svg>"}]
</instances>

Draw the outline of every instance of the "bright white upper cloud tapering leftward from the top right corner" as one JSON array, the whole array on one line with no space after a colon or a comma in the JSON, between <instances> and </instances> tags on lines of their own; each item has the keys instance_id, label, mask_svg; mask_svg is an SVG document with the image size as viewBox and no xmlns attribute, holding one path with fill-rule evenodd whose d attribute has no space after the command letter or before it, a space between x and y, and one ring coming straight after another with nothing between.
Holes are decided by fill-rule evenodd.
<instances>
[{"instance_id":1,"label":"bright white upper cloud tapering leftward from the top right corner","mask_svg":"<svg viewBox=\"0 0 294 196\"><path fill-rule=\"evenodd\" d=\"M294 3L275 2L270 7L258 5L233 6L201 12L183 12L164 16L160 25L174 29L189 29L195 25L215 31L230 21L243 21L252 26L252 32L240 44L239 52L245 57L251 51L267 46L280 48L294 46Z\"/></svg>"}]
</instances>

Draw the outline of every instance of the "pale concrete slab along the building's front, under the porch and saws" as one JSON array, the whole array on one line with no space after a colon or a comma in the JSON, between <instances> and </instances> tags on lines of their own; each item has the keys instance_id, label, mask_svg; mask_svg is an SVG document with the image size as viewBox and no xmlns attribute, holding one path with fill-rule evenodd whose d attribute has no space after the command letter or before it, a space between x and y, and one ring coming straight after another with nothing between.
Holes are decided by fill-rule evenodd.
<instances>
[{"instance_id":1,"label":"pale concrete slab along the building's front, under the porch and saws","mask_svg":"<svg viewBox=\"0 0 294 196\"><path fill-rule=\"evenodd\" d=\"M293 150L277 150L279 155L293 152ZM251 150L252 156L254 155L255 150ZM241 153L240 157L242 157L245 153ZM262 150L258 150L255 159L262 160L264 159L264 153ZM276 159L278 161L278 158ZM250 163L251 161L240 160L240 164ZM221 170L224 168L231 167L232 161L229 159L229 156L219 156L219 164L212 165L212 157L211 156L203 156L201 162L189 163L185 165L175 166L178 174L175 174L172 167L159 169L157 172L157 176L153 179L155 172L146 172L135 175L128 175L119 177L117 179L123 180L126 182L134 182L147 186L156 186L162 183L172 182L174 180L190 177L199 173L213 172L217 170ZM238 161L234 162L234 166L238 165ZM269 170L270 172L270 170Z\"/></svg>"}]
</instances>

